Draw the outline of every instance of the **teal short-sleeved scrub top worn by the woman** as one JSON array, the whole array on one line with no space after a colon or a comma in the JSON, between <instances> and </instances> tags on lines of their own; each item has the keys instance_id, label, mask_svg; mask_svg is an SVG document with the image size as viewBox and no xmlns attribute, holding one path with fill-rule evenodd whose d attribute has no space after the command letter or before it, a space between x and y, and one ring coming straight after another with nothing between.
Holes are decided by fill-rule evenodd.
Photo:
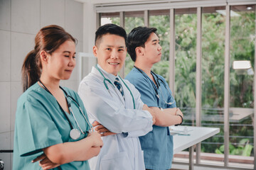
<instances>
[{"instance_id":1,"label":"teal short-sleeved scrub top worn by the woman","mask_svg":"<svg viewBox=\"0 0 256 170\"><path fill-rule=\"evenodd\" d=\"M68 88L63 89L78 102L87 118L85 107L78 94ZM84 132L90 130L90 126L80 113L75 101L70 97L68 98L80 128ZM73 115L68 113L66 115L68 115L73 128L79 130ZM33 84L18 98L14 130L13 169L41 169L38 162L31 163L31 161L43 154L43 148L63 142L74 142L87 137L87 133L85 135L81 133L78 140L73 140L69 133L70 125L56 99L41 88L38 83ZM87 161L70 162L59 167L55 169L90 169Z\"/></svg>"}]
</instances>

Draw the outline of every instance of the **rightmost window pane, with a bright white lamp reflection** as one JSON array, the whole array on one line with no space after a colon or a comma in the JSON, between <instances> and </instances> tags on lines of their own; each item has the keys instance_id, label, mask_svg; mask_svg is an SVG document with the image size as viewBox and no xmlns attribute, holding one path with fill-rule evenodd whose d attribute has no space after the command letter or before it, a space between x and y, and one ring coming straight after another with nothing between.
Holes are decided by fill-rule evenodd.
<instances>
[{"instance_id":1,"label":"rightmost window pane, with a bright white lamp reflection","mask_svg":"<svg viewBox=\"0 0 256 170\"><path fill-rule=\"evenodd\" d=\"M255 5L231 6L230 9L229 161L230 164L252 168ZM235 161L234 157L237 158Z\"/></svg>"}]
</instances>

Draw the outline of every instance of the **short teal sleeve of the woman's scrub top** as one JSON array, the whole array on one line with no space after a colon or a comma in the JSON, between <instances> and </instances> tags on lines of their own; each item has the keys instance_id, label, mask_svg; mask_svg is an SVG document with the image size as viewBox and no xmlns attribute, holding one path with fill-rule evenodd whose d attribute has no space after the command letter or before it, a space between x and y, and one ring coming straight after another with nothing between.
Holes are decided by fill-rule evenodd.
<instances>
[{"instance_id":1,"label":"short teal sleeve of the woman's scrub top","mask_svg":"<svg viewBox=\"0 0 256 170\"><path fill-rule=\"evenodd\" d=\"M45 147L63 142L41 102L26 101L17 107L16 130L21 157L42 152Z\"/></svg>"}]
</instances>

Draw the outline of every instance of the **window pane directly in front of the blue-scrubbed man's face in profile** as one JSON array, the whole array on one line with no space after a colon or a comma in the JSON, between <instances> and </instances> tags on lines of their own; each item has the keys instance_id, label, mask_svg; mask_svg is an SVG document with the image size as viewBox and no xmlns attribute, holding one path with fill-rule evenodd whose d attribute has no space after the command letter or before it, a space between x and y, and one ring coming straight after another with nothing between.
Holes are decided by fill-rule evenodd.
<instances>
[{"instance_id":1,"label":"window pane directly in front of the blue-scrubbed man's face in profile","mask_svg":"<svg viewBox=\"0 0 256 170\"><path fill-rule=\"evenodd\" d=\"M169 10L149 11L149 27L157 28L162 47L161 62L154 64L152 70L169 82L170 16Z\"/></svg>"}]
</instances>

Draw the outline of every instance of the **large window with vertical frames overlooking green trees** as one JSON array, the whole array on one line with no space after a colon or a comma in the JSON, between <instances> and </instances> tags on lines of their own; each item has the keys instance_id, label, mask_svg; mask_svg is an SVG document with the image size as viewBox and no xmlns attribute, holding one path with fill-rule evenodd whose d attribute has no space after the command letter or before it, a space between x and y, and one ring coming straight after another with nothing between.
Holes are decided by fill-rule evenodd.
<instances>
[{"instance_id":1,"label":"large window with vertical frames overlooking green trees","mask_svg":"<svg viewBox=\"0 0 256 170\"><path fill-rule=\"evenodd\" d=\"M224 4L225 5L225 4ZM220 128L220 133L199 145L198 164L212 164L225 168L254 168L254 96L255 96L255 3L236 6L195 6L173 9L131 11L124 13L124 21L118 13L102 13L112 23L124 23L127 33L132 28L144 26L157 28L162 49L161 62L153 71L161 74L171 84L174 81L174 94L178 108L184 114L183 125L196 125L197 115L201 115L201 126ZM230 8L230 13L227 9ZM201 13L198 13L200 9ZM171 11L174 11L171 23ZM198 17L200 15L200 17ZM198 26L198 18L201 26ZM120 20L121 19L121 20ZM227 23L228 21L228 23ZM230 23L229 23L230 22ZM174 25L174 27L172 27ZM174 28L174 33L171 33ZM227 33L228 28L228 33ZM200 30L200 31L198 31ZM197 48L198 33L201 33L200 49ZM174 39L171 38L174 35ZM170 68L170 44L174 42L175 67ZM230 42L230 43L229 43ZM230 45L229 47L227 47ZM227 49L230 60L227 61ZM198 55L199 54L199 55ZM201 56L198 62L198 56ZM171 60L172 61L172 60ZM134 62L127 55L125 75L132 69ZM197 64L201 70L197 70ZM229 74L229 96L225 94L225 75ZM175 78L169 79L171 72ZM201 77L198 78L198 72ZM196 89L201 84L200 112ZM199 88L200 89L200 88ZM226 97L228 96L228 97ZM229 107L225 106L228 98ZM226 114L225 108L229 113ZM228 115L229 120L225 119ZM228 125L228 126L226 126ZM225 128L228 127L228 128ZM228 129L228 133L225 131ZM228 141L228 142L227 142ZM227 145L229 144L229 145ZM229 153L225 152L225 145ZM175 155L174 161L185 161L187 152ZM183 158L182 158L183 157ZM228 157L228 158L227 158ZM198 161L199 159L199 161Z\"/></svg>"}]
</instances>

